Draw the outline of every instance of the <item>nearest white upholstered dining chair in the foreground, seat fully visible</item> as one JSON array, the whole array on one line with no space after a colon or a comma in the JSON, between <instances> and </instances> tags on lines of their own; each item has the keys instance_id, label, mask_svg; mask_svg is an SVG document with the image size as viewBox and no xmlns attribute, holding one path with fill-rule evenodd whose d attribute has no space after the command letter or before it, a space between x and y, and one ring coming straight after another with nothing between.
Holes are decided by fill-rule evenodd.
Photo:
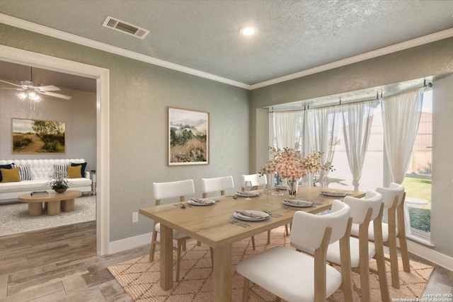
<instances>
[{"instance_id":1,"label":"nearest white upholstered dining chair in the foreground, seat fully visible","mask_svg":"<svg viewBox=\"0 0 453 302\"><path fill-rule=\"evenodd\" d=\"M277 301L326 301L340 286L345 301L352 301L350 269L350 207L334 200L332 211L326 215L314 215L296 211L292 221L291 244L298 249L314 249L314 257L282 246L265 250L239 262L236 272L244 277L242 301L253 296L263 298L249 289L253 282L277 296ZM314 227L316 226L316 227ZM329 243L341 240L342 269L326 262Z\"/></svg>"}]
</instances>

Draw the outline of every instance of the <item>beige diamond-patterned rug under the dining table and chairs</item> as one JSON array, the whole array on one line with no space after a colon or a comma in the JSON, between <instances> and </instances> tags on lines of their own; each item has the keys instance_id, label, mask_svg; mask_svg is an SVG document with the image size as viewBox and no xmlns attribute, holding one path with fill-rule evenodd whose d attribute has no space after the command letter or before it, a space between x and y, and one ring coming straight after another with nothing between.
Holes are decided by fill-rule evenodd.
<instances>
[{"instance_id":1,"label":"beige diamond-patterned rug under the dining table and chairs","mask_svg":"<svg viewBox=\"0 0 453 302\"><path fill-rule=\"evenodd\" d=\"M247 257L273 248L276 245L288 246L289 237L283 236L283 231L283 227L272 231L270 245L266 244L267 233L255 236L256 251L253 251L250 239L234 243L232 249L234 265L231 279L232 301L241 301L243 285L243 277L236 273L236 264ZM176 259L176 253L173 258ZM159 252L156 252L154 262L149 262L148 259L149 255L144 255L108 267L108 270L134 301L212 301L212 266L209 248L206 245L199 247L195 243L188 244L188 251L181 258L181 281L179 283L175 282L173 289L168 291L162 290L159 285ZM375 267L375 263L371 263L371 265ZM411 261L411 274L408 274L402 271L401 263L399 267L401 269L401 289L397 290L389 286L390 298L394 298L394 301L396 301L396 298L399 298L399 301L401 301L401 298L420 298L433 268L429 265ZM387 272L389 272L389 269L388 266ZM389 278L387 281L390 284L390 273L387 274ZM354 274L353 278L357 282L356 284L360 286L359 275ZM382 301L379 281L374 274L371 274L371 282L372 301ZM275 300L275 296L260 289L259 286L256 286L255 290L260 292L266 300ZM338 301L343 301L343 292L340 290L336 291L334 297ZM250 298L249 301L256 300ZM358 295L355 297L355 301L360 301Z\"/></svg>"}]
</instances>

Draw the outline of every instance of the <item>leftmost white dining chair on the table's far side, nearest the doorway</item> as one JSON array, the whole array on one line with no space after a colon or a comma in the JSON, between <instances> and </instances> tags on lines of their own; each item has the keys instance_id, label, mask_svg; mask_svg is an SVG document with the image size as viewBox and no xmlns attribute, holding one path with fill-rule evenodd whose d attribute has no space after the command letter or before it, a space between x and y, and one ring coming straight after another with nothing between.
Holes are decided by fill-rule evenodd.
<instances>
[{"instance_id":1,"label":"leftmost white dining chair on the table's far side, nearest the doorway","mask_svg":"<svg viewBox=\"0 0 453 302\"><path fill-rule=\"evenodd\" d=\"M156 206L159 206L164 199L171 202L171 199L179 197L180 202L184 202L185 195L195 194L195 186L193 180L180 180L175 182L153 182L154 188L154 199L156 200ZM154 221L153 236L151 239L151 249L149 251L149 261L154 261L154 252L156 251L156 245L159 244L157 235L161 231L161 223ZM190 239L184 233L173 230L173 242L176 241L176 247L173 244L173 250L176 250L176 281L179 281L179 268L181 260L181 250L185 250L185 242Z\"/></svg>"}]
</instances>

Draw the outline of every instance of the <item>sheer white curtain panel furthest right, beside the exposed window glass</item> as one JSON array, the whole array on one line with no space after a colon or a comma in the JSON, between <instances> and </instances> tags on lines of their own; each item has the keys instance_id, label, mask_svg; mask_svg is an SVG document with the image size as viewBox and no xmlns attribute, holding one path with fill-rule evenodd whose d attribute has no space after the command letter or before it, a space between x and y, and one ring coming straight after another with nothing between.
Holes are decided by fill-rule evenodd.
<instances>
[{"instance_id":1,"label":"sheer white curtain panel furthest right, beside the exposed window glass","mask_svg":"<svg viewBox=\"0 0 453 302\"><path fill-rule=\"evenodd\" d=\"M401 184L408 169L409 159L423 104L423 88L391 95L382 100L384 146L393 182Z\"/></svg>"}]
</instances>

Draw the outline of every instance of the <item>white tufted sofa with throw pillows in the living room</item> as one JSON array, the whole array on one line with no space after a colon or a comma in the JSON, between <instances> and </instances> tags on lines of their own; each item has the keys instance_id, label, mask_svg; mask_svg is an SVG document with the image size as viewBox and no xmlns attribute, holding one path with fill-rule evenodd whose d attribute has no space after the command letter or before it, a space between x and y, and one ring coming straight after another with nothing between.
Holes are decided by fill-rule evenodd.
<instances>
[{"instance_id":1,"label":"white tufted sofa with throw pillows in the living room","mask_svg":"<svg viewBox=\"0 0 453 302\"><path fill-rule=\"evenodd\" d=\"M52 192L48 182L54 175L54 165L85 163L84 159L18 159L1 160L0 165L30 165L33 180L20 182L0 182L0 203L17 199L21 194L37 190ZM81 192L91 192L90 173L85 171L84 178L69 178L69 188Z\"/></svg>"}]
</instances>

